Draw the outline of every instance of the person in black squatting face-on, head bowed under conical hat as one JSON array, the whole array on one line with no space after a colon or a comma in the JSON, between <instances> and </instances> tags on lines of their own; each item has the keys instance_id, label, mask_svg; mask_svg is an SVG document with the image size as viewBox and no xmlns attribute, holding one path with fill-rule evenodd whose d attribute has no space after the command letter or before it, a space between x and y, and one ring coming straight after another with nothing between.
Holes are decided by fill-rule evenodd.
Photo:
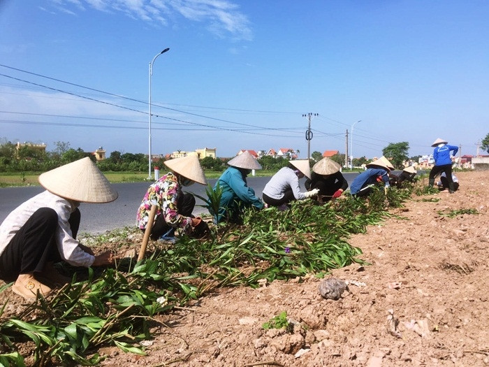
<instances>
[{"instance_id":1,"label":"person in black squatting face-on, head bowed under conical hat","mask_svg":"<svg viewBox=\"0 0 489 367\"><path fill-rule=\"evenodd\" d=\"M328 157L324 157L312 166L311 178L306 180L305 187L307 190L319 189L319 203L339 198L348 188L348 182L340 169L340 164Z\"/></svg>"}]
</instances>

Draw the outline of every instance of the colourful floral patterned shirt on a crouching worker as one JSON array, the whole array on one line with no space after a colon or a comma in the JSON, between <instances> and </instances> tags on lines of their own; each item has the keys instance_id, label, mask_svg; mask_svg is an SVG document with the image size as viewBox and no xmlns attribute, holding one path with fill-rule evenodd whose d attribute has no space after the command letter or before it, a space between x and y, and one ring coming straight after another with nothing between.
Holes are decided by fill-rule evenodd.
<instances>
[{"instance_id":1,"label":"colourful floral patterned shirt on a crouching worker","mask_svg":"<svg viewBox=\"0 0 489 367\"><path fill-rule=\"evenodd\" d=\"M149 219L149 211L152 205L156 205L156 220L159 215L163 215L166 223L174 228L180 228L185 233L191 232L191 217L184 217L178 214L177 203L182 189L178 183L177 176L169 172L154 182L147 190L136 216L137 225L140 229L146 229Z\"/></svg>"}]
</instances>

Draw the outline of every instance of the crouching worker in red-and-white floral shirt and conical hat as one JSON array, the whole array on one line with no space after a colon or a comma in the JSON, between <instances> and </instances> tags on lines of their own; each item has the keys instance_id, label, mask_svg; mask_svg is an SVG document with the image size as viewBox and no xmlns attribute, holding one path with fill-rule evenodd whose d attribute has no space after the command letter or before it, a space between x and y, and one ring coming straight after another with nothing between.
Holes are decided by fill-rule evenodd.
<instances>
[{"instance_id":1,"label":"crouching worker in red-and-white floral shirt and conical hat","mask_svg":"<svg viewBox=\"0 0 489 367\"><path fill-rule=\"evenodd\" d=\"M196 205L194 195L182 192L182 187L198 182L207 185L204 171L196 155L170 159L164 162L171 172L154 182L141 201L136 215L138 227L145 231L151 206L156 214L149 238L175 243L175 230L199 238L209 232L209 226L201 218L192 215Z\"/></svg>"}]
</instances>

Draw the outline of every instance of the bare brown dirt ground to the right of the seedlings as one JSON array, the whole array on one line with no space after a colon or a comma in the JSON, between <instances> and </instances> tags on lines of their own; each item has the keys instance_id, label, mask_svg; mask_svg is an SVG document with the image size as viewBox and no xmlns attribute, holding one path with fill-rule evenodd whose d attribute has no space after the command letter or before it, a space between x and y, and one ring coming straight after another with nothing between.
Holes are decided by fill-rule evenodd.
<instances>
[{"instance_id":1,"label":"bare brown dirt ground to the right of the seedlings","mask_svg":"<svg viewBox=\"0 0 489 367\"><path fill-rule=\"evenodd\" d=\"M350 238L370 265L331 271L339 300L314 277L220 289L160 316L146 357L105 348L102 366L489 366L489 172L457 175ZM262 328L283 311L290 331Z\"/></svg>"}]
</instances>

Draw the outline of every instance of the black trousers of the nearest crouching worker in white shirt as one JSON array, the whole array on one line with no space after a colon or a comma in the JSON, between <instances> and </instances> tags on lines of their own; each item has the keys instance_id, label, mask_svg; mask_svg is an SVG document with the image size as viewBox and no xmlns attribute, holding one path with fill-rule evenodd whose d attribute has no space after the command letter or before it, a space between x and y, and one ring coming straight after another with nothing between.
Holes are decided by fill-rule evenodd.
<instances>
[{"instance_id":1,"label":"black trousers of the nearest crouching worker in white shirt","mask_svg":"<svg viewBox=\"0 0 489 367\"><path fill-rule=\"evenodd\" d=\"M80 228L80 210L71 213L68 220L73 238ZM56 243L58 215L51 208L39 208L20 227L0 255L0 278L12 282L20 274L43 271L48 262L60 261Z\"/></svg>"}]
</instances>

